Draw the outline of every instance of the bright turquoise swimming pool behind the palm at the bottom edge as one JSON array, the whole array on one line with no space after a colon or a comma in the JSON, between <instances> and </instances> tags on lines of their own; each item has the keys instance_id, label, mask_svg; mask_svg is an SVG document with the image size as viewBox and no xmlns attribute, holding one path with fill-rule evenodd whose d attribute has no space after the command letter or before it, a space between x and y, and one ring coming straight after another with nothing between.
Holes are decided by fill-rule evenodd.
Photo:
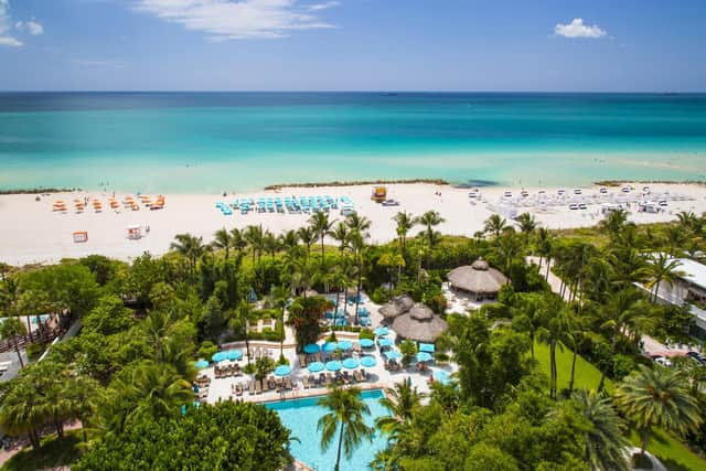
<instances>
[{"instance_id":1,"label":"bright turquoise swimming pool behind the palm at the bottom edge","mask_svg":"<svg viewBox=\"0 0 706 471\"><path fill-rule=\"evenodd\" d=\"M383 390L364 390L361 393L361 397L371 410L365 422L373 427L377 417L387 415L387 409L378 400L383 397ZM317 430L317 422L325 414L325 410L317 406L317 400L319 397L281 400L265 404L265 407L277 410L282 424L291 430L292 438L299 440L291 441L290 450L295 458L318 471L332 470L335 463L338 441L331 443L325 453L321 450L319 446L321 435ZM345 454L341 452L341 471L370 469L370 462L373 461L377 451L385 448L386 442L387 439L378 430L375 430L373 442L364 441L361 443L350 459L346 459Z\"/></svg>"}]
</instances>

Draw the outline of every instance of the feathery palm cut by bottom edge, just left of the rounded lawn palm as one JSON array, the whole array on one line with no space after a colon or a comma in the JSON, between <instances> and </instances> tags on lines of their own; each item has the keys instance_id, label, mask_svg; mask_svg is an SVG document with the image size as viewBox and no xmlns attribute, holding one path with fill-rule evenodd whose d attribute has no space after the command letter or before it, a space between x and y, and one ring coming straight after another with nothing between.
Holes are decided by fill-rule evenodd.
<instances>
[{"instance_id":1,"label":"feathery palm cut by bottom edge, just left of the rounded lawn palm","mask_svg":"<svg viewBox=\"0 0 706 471\"><path fill-rule=\"evenodd\" d=\"M586 462L599 471L630 471L625 447L630 441L621 430L622 420L616 414L610 397L580 389L571 396L578 411L590 425L584 431Z\"/></svg>"}]
</instances>

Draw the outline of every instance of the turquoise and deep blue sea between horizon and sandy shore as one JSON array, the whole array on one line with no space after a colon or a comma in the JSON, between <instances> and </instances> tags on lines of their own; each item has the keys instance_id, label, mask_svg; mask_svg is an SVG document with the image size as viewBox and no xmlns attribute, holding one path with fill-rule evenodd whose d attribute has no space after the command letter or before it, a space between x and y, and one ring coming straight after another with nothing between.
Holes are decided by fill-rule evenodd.
<instances>
[{"instance_id":1,"label":"turquoise and deep blue sea between horizon and sandy shore","mask_svg":"<svg viewBox=\"0 0 706 471\"><path fill-rule=\"evenodd\" d=\"M0 189L706 176L706 95L0 94Z\"/></svg>"}]
</instances>

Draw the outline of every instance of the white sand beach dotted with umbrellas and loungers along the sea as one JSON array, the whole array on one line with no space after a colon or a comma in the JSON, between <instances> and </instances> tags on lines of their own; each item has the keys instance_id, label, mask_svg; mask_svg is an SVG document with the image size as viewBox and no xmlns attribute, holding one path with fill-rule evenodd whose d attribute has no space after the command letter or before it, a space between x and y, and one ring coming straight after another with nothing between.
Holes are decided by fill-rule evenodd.
<instances>
[{"instance_id":1,"label":"white sand beach dotted with umbrellas and loungers along the sea","mask_svg":"<svg viewBox=\"0 0 706 471\"><path fill-rule=\"evenodd\" d=\"M608 201L631 201L630 221L637 223L664 222L676 218L681 211L696 214L706 212L706 186L696 184L633 184L630 193L621 192L621 188L609 188L605 193L598 186L584 188L581 194L575 194L573 188L566 188L563 196L557 195L557 188L545 189L506 189L481 188L480 196L470 199L468 189L454 189L422 183L391 184L387 186L388 197L399 201L399 206L383 206L371 200L372 185L330 186L330 188L289 188L279 192L260 191L248 194L222 195L206 194L168 194L163 210L150 211L141 206L139 211L120 207L110 210L108 199L111 194L97 192L60 193L42 196L35 201L33 194L0 196L0 261L10 265L51 264L66 257L82 257L89 254L101 254L129 260L145 251L163 254L174 235L191 233L203 236L211 242L215 231L226 227L245 227L261 224L264 228L276 234L298 228L307 223L310 214L257 213L252 211L242 215L234 211L233 215L224 215L215 205L217 202L231 203L235 199L281 197L330 195L333 199L350 197L355 210L372 221L371 242L383 243L395 238L393 216L398 211L407 211L413 215L435 210L446 220L438 226L442 234L472 236L482 231L483 222L498 208L498 203L505 200L507 207L516 207L517 213L530 212L537 222L547 228L582 227L597 224L601 216L601 203ZM650 188L650 194L643 196L643 186ZM521 194L525 191L527 196ZM539 193L539 191L544 193ZM440 195L437 193L440 192ZM505 192L512 196L504 197ZM128 194L116 194L122 201ZM135 196L135 195L133 195ZM97 199L103 203L103 211L96 213L89 203L84 213L77 214L73 201L84 197ZM56 200L67 205L65 213L52 211ZM666 201L659 213L638 213L635 201ZM541 204L545 201L545 204ZM573 202L584 202L586 208L571 210ZM332 218L343 218L340 212L331 210ZM127 227L139 225L142 237L128 239ZM149 234L146 228L149 226ZM87 232L88 240L74 243L74 232ZM413 231L417 232L415 228Z\"/></svg>"}]
</instances>

